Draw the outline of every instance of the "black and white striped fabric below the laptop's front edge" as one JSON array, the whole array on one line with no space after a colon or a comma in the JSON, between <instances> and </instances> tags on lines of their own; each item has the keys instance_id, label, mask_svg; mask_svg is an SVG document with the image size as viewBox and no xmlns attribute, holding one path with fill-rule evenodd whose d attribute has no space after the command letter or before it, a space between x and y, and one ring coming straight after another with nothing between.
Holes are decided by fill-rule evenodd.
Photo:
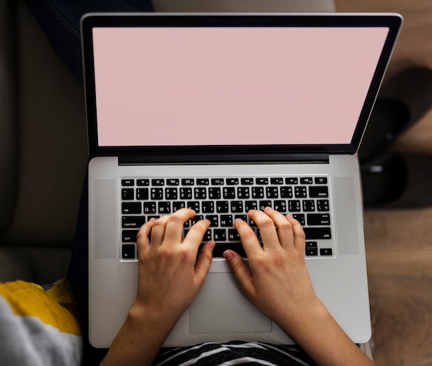
<instances>
[{"instance_id":1,"label":"black and white striped fabric below the laptop's front edge","mask_svg":"<svg viewBox=\"0 0 432 366\"><path fill-rule=\"evenodd\" d=\"M315 365L304 351L295 345L269 345L259 342L232 341L225 344L202 343L190 347L162 349L155 366L188 365Z\"/></svg>"}]
</instances>

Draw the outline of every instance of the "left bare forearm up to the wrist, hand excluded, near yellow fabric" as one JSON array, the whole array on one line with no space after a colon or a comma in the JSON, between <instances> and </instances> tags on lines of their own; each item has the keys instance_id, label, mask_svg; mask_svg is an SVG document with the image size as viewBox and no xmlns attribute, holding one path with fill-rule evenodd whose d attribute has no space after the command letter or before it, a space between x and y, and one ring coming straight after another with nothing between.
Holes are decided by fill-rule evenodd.
<instances>
[{"instance_id":1,"label":"left bare forearm up to the wrist, hand excluded, near yellow fabric","mask_svg":"<svg viewBox=\"0 0 432 366\"><path fill-rule=\"evenodd\" d=\"M132 307L101 365L151 365L174 325Z\"/></svg>"}]
</instances>

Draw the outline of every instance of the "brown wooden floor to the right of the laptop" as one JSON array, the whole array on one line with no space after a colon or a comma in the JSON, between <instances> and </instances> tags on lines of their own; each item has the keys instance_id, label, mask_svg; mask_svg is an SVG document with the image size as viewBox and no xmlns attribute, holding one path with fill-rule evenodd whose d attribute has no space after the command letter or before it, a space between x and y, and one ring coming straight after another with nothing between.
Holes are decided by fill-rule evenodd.
<instances>
[{"instance_id":1,"label":"brown wooden floor to the right of the laptop","mask_svg":"<svg viewBox=\"0 0 432 366\"><path fill-rule=\"evenodd\" d=\"M336 0L338 12L399 12L404 26L387 76L432 68L432 1ZM432 110L395 144L432 155ZM425 166L432 174L432 166ZM379 366L432 365L432 208L366 211L373 358Z\"/></svg>"}]
</instances>

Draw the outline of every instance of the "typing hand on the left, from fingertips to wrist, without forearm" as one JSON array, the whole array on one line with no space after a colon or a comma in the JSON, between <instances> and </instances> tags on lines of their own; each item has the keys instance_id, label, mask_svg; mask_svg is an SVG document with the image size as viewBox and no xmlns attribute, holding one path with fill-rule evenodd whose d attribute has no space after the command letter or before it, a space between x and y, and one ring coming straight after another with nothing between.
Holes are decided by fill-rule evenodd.
<instances>
[{"instance_id":1,"label":"typing hand on the left, from fingertips to wrist, without forearm","mask_svg":"<svg viewBox=\"0 0 432 366\"><path fill-rule=\"evenodd\" d=\"M162 320L159 325L175 325L195 300L210 269L215 243L207 242L197 256L210 222L200 220L181 239L184 222L194 217L195 211L181 209L146 222L137 235L139 277L132 307Z\"/></svg>"}]
</instances>

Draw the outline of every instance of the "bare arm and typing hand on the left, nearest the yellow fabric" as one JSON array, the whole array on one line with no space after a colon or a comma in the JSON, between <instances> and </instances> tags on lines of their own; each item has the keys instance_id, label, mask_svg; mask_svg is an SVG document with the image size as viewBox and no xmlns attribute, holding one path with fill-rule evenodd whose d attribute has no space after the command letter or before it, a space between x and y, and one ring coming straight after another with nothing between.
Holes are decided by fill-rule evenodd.
<instances>
[{"instance_id":1,"label":"bare arm and typing hand on the left, nearest the yellow fabric","mask_svg":"<svg viewBox=\"0 0 432 366\"><path fill-rule=\"evenodd\" d=\"M101 365L150 365L210 269L214 242L197 252L210 223L201 220L181 240L195 211L181 209L146 222L137 235L138 288L128 316ZM148 235L151 231L151 243Z\"/></svg>"}]
</instances>

